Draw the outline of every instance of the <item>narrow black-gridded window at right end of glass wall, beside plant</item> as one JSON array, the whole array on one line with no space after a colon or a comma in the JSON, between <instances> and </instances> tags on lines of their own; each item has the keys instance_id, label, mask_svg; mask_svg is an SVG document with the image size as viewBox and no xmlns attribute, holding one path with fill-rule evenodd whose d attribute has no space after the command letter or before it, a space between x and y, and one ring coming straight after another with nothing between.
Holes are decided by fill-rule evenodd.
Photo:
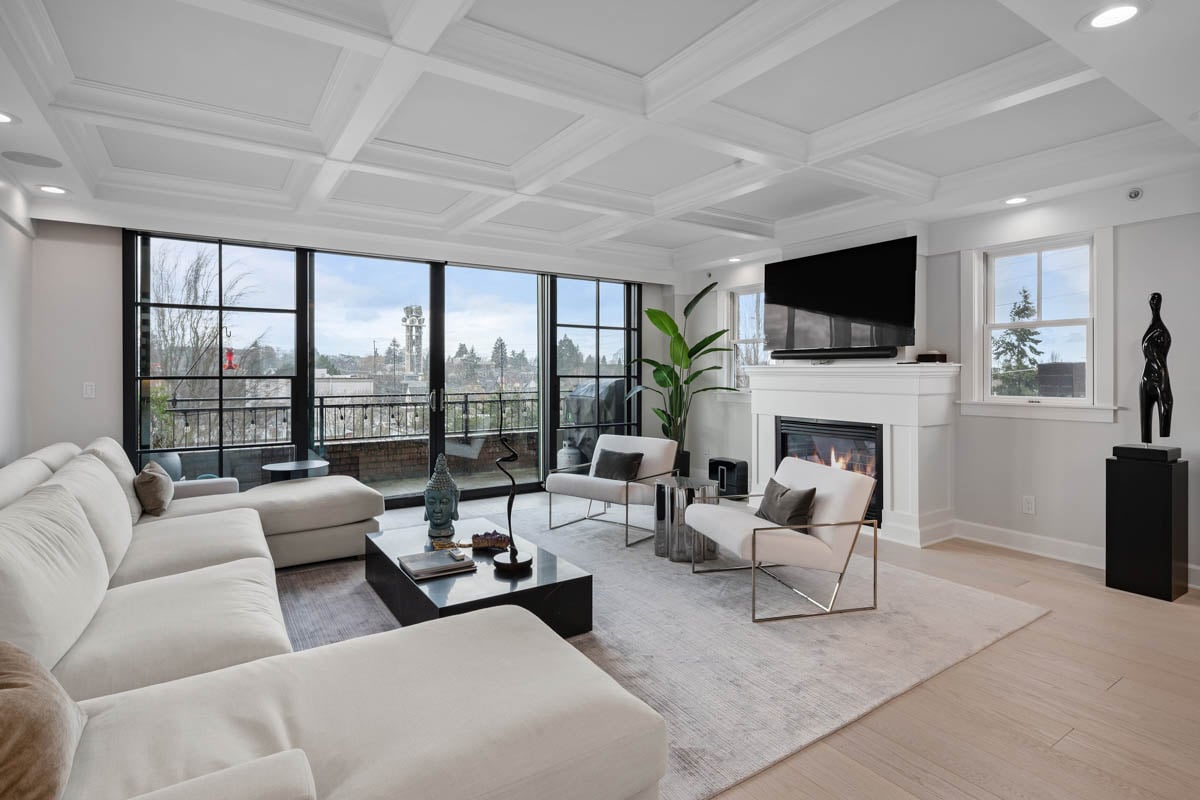
<instances>
[{"instance_id":1,"label":"narrow black-gridded window at right end of glass wall, beside plant","mask_svg":"<svg viewBox=\"0 0 1200 800\"><path fill-rule=\"evenodd\" d=\"M600 434L641 433L637 403L625 399L637 380L641 293L631 283L552 277L550 294L556 452L547 462L570 467L592 459Z\"/></svg>"}]
</instances>

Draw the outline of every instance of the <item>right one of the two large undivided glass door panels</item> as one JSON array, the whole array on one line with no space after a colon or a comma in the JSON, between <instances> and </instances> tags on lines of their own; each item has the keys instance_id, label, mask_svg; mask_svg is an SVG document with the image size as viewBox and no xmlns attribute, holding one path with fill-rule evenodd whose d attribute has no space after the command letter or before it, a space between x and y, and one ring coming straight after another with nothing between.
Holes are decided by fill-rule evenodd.
<instances>
[{"instance_id":1,"label":"right one of the two large undivided glass door panels","mask_svg":"<svg viewBox=\"0 0 1200 800\"><path fill-rule=\"evenodd\" d=\"M445 267L444 353L446 462L464 494L540 477L539 276L474 266Z\"/></svg>"}]
</instances>

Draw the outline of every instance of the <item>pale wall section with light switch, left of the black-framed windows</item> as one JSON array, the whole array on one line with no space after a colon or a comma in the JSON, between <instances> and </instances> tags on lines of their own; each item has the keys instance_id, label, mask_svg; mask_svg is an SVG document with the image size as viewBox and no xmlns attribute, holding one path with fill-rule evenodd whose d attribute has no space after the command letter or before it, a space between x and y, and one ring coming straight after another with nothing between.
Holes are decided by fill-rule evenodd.
<instances>
[{"instance_id":1,"label":"pale wall section with light switch, left of the black-framed windows","mask_svg":"<svg viewBox=\"0 0 1200 800\"><path fill-rule=\"evenodd\" d=\"M121 231L38 222L26 446L121 438ZM83 398L95 381L96 398Z\"/></svg>"}]
</instances>

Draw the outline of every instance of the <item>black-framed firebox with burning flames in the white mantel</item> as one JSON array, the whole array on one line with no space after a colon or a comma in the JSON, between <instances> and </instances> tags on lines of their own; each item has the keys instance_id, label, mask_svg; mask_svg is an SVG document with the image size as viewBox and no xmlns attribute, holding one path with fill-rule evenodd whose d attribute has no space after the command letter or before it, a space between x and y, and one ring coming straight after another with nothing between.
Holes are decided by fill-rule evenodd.
<instances>
[{"instance_id":1,"label":"black-framed firebox with burning flames in the white mantel","mask_svg":"<svg viewBox=\"0 0 1200 800\"><path fill-rule=\"evenodd\" d=\"M866 518L883 522L882 425L776 416L775 464L788 456L874 477Z\"/></svg>"}]
</instances>

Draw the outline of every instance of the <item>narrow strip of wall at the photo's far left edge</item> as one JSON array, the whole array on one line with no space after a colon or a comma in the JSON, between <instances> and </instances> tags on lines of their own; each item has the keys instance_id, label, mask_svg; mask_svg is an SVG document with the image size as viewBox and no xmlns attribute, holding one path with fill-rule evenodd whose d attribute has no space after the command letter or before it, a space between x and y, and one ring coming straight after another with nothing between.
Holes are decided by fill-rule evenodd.
<instances>
[{"instance_id":1,"label":"narrow strip of wall at the photo's far left edge","mask_svg":"<svg viewBox=\"0 0 1200 800\"><path fill-rule=\"evenodd\" d=\"M29 449L32 253L30 237L0 217L0 464Z\"/></svg>"}]
</instances>

